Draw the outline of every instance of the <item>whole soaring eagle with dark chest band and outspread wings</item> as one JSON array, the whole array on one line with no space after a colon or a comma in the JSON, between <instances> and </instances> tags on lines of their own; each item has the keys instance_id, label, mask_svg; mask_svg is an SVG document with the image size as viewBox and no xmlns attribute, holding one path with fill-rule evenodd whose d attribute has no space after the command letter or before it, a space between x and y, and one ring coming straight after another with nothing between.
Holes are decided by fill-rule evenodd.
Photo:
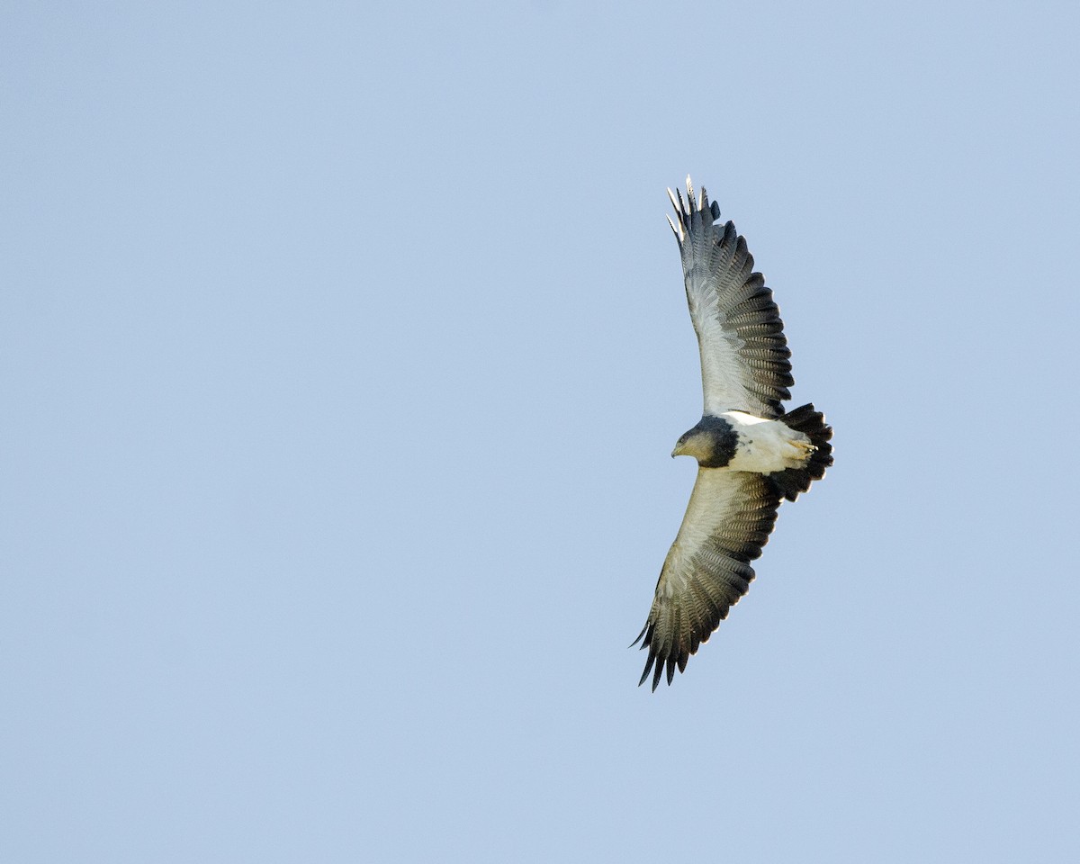
<instances>
[{"instance_id":1,"label":"whole soaring eagle with dark chest band and outspread wings","mask_svg":"<svg viewBox=\"0 0 1080 864\"><path fill-rule=\"evenodd\" d=\"M765 278L754 272L746 241L705 190L687 200L670 189L669 217L683 255L690 320L701 349L705 408L672 456L698 460L698 480L683 525L657 582L645 627L634 639L649 649L642 680L652 671L686 670L754 578L784 499L794 501L833 464L832 427L813 405L784 413L792 364L780 310Z\"/></svg>"}]
</instances>

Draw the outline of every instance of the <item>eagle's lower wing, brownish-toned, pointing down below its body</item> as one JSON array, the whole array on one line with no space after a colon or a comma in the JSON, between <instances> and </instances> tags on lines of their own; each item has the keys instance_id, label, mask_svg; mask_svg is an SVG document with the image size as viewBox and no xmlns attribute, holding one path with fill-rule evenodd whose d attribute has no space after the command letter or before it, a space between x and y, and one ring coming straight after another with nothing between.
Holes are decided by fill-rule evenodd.
<instances>
[{"instance_id":1,"label":"eagle's lower wing, brownish-toned, pointing down below its body","mask_svg":"<svg viewBox=\"0 0 1080 864\"><path fill-rule=\"evenodd\" d=\"M672 543L645 629L635 639L649 649L642 680L652 675L657 689L664 667L667 684L675 666L707 642L728 609L754 578L750 562L761 554L777 522L780 492L762 474L698 469L690 503Z\"/></svg>"}]
</instances>

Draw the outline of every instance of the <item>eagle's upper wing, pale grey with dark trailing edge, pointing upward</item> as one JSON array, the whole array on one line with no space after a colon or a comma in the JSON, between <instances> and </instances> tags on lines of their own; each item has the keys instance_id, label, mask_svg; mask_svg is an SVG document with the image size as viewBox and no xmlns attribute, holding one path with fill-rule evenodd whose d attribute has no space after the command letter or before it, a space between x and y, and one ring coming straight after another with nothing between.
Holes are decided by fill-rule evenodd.
<instances>
[{"instance_id":1,"label":"eagle's upper wing, pale grey with dark trailing edge, pointing upward","mask_svg":"<svg viewBox=\"0 0 1080 864\"><path fill-rule=\"evenodd\" d=\"M704 413L780 417L795 379L772 292L753 272L754 256L734 225L714 224L720 208L710 204L704 189L694 200L689 177L686 189L686 201L667 190L677 221L667 220L683 254L686 298L701 348Z\"/></svg>"}]
</instances>

